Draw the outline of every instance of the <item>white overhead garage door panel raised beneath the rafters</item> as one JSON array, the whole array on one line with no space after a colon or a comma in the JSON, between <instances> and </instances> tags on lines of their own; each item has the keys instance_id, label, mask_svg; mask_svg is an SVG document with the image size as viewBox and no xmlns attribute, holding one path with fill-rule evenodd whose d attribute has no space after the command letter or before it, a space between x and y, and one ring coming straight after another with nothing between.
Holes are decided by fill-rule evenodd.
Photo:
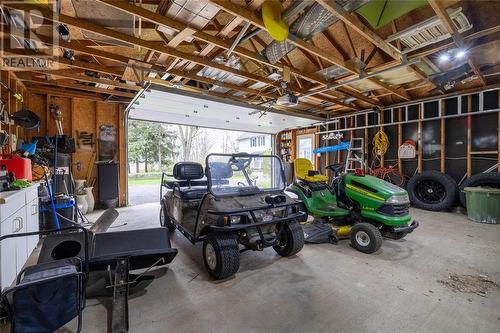
<instances>
[{"instance_id":1,"label":"white overhead garage door panel raised beneath the rafters","mask_svg":"<svg viewBox=\"0 0 500 333\"><path fill-rule=\"evenodd\" d=\"M129 118L137 120L267 134L311 126L319 120L157 85L140 92L128 111Z\"/></svg>"}]
</instances>

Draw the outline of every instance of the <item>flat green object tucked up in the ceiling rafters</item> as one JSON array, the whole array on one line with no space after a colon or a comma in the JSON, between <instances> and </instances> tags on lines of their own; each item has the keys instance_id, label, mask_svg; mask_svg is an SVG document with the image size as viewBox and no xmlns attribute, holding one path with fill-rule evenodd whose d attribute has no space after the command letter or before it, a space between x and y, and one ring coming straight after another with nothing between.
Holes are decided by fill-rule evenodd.
<instances>
[{"instance_id":1,"label":"flat green object tucked up in the ceiling rafters","mask_svg":"<svg viewBox=\"0 0 500 333\"><path fill-rule=\"evenodd\" d=\"M372 0L356 12L378 29L414 9L425 6L427 0Z\"/></svg>"}]
</instances>

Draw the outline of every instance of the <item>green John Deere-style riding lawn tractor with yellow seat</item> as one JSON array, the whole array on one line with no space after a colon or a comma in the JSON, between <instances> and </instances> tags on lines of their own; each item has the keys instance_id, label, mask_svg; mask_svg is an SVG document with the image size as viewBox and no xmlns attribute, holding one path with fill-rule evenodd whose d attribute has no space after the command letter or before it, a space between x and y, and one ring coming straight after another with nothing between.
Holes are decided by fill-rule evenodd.
<instances>
[{"instance_id":1,"label":"green John Deere-style riding lawn tractor with yellow seat","mask_svg":"<svg viewBox=\"0 0 500 333\"><path fill-rule=\"evenodd\" d=\"M352 247L364 253L376 252L382 236L401 239L418 227L409 214L404 189L362 170L339 176L343 167L327 167L334 175L328 183L328 177L313 170L308 159L298 158L296 181L287 190L298 195L309 215L332 223L337 239L350 238Z\"/></svg>"}]
</instances>

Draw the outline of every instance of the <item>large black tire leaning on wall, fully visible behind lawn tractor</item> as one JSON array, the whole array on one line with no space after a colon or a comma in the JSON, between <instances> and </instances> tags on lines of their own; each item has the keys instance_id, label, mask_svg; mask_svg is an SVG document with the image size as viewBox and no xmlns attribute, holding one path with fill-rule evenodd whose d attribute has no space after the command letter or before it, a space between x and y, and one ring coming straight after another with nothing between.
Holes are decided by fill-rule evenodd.
<instances>
[{"instance_id":1,"label":"large black tire leaning on wall, fully visible behind lawn tractor","mask_svg":"<svg viewBox=\"0 0 500 333\"><path fill-rule=\"evenodd\" d=\"M406 190L414 207L441 211L453 206L458 186L447 174L431 170L411 177Z\"/></svg>"}]
</instances>

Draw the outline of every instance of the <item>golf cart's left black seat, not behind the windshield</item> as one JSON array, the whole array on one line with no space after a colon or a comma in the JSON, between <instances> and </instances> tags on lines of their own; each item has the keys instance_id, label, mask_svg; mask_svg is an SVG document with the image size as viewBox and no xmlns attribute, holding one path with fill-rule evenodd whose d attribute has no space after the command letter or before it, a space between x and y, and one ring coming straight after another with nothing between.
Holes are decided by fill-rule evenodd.
<instances>
[{"instance_id":1,"label":"golf cart's left black seat, not behind the windshield","mask_svg":"<svg viewBox=\"0 0 500 333\"><path fill-rule=\"evenodd\" d=\"M199 180L203 178L203 176L203 167L200 163L175 163L174 178L181 181L181 184L179 184L179 187L175 190L175 192L178 192L179 196L183 200L199 200L203 198L203 195L207 192L206 181Z\"/></svg>"}]
</instances>

